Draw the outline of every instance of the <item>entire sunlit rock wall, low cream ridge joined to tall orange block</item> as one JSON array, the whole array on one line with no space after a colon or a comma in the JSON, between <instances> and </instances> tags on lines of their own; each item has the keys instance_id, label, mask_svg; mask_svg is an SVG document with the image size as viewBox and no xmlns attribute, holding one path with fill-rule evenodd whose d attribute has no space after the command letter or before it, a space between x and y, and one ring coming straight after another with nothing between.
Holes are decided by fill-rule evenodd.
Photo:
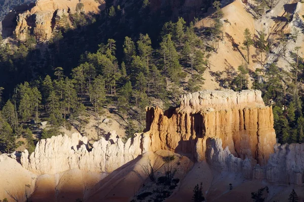
<instances>
[{"instance_id":1,"label":"entire sunlit rock wall, low cream ridge joined to tall orange block","mask_svg":"<svg viewBox=\"0 0 304 202\"><path fill-rule=\"evenodd\" d=\"M197 161L206 158L210 138L222 141L231 155L252 165L267 163L276 144L272 108L265 107L260 91L208 91L181 96L179 108L163 112L147 108L147 131L126 144L116 138L100 139L89 151L80 134L40 141L21 164L37 174L55 174L70 169L112 172L147 151L167 149L187 153Z\"/></svg>"}]
</instances>

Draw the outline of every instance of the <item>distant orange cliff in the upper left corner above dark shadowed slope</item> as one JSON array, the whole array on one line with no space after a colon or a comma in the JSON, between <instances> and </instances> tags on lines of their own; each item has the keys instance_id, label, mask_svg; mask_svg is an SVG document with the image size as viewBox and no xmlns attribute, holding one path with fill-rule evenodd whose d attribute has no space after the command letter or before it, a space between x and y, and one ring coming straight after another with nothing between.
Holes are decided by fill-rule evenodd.
<instances>
[{"instance_id":1,"label":"distant orange cliff in the upper left corner above dark shadowed slope","mask_svg":"<svg viewBox=\"0 0 304 202\"><path fill-rule=\"evenodd\" d=\"M82 11L87 15L98 13L103 9L104 1L83 0ZM37 0L35 4L29 6L15 7L2 22L3 36L17 36L20 40L25 40L27 32L31 32L37 40L48 40L52 36L52 31L56 25L55 19L63 14L68 16L77 12L78 0Z\"/></svg>"}]
</instances>

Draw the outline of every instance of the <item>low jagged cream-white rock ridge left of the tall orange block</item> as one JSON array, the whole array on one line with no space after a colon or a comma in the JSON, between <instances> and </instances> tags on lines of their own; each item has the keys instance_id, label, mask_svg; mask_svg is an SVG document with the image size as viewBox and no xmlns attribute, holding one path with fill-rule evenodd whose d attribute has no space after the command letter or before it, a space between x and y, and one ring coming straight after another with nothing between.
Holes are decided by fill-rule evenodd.
<instances>
[{"instance_id":1,"label":"low jagged cream-white rock ridge left of the tall orange block","mask_svg":"<svg viewBox=\"0 0 304 202\"><path fill-rule=\"evenodd\" d=\"M145 153L146 145L149 145L142 134L124 144L116 138L115 131L111 133L115 138L100 139L91 151L88 151L88 139L78 133L72 134L71 138L64 135L41 140L30 156L27 150L22 153L21 164L36 174L56 174L71 169L110 173Z\"/></svg>"}]
</instances>

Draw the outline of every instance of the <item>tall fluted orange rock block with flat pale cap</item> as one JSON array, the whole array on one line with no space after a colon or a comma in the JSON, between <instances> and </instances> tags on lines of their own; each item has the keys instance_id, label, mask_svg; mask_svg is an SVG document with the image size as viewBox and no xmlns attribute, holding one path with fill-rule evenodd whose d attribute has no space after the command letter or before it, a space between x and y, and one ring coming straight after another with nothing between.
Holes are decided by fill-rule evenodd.
<instances>
[{"instance_id":1,"label":"tall fluted orange rock block with flat pale cap","mask_svg":"<svg viewBox=\"0 0 304 202\"><path fill-rule=\"evenodd\" d=\"M241 159L267 163L276 144L272 107L260 91L204 90L181 97L181 105L163 112L147 109L152 150L169 149L205 159L206 140L216 137Z\"/></svg>"}]
</instances>

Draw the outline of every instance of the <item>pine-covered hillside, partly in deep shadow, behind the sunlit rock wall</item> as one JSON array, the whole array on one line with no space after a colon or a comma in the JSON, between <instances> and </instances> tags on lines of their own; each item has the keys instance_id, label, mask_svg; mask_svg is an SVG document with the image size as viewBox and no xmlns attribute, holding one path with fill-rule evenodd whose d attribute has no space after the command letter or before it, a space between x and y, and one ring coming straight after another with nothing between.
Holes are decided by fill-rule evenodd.
<instances>
[{"instance_id":1,"label":"pine-covered hillside, partly in deep shadow, behind the sunlit rock wall","mask_svg":"<svg viewBox=\"0 0 304 202\"><path fill-rule=\"evenodd\" d=\"M47 43L37 42L30 32L25 41L2 43L1 151L12 151L15 139L21 136L32 151L34 142L58 135L60 127L75 127L84 134L88 113L98 119L105 111L120 116L127 138L131 137L145 129L146 106L175 107L180 94L203 89L204 73L211 68L209 58L220 51L221 44L231 41L243 63L213 72L214 80L221 89L261 90L265 104L273 105L279 142L303 142L299 49L280 53L280 57L289 54L294 60L290 72L283 70L276 62L265 62L274 52L274 41L264 30L253 34L244 27L242 44L224 33L224 26L231 23L223 20L218 1L200 5L191 20L183 7L165 2L154 10L148 0L115 5L107 1L105 10L92 18L81 10L71 16L71 24L64 15L56 18ZM211 22L198 27L207 5L213 11L207 17ZM171 14L176 8L180 15L174 17ZM254 9L262 16L267 7ZM278 36L283 42L292 37L289 32ZM250 52L252 48L255 54ZM252 58L261 68L249 68ZM36 124L29 124L30 120ZM37 123L45 120L50 125L41 131Z\"/></svg>"}]
</instances>

